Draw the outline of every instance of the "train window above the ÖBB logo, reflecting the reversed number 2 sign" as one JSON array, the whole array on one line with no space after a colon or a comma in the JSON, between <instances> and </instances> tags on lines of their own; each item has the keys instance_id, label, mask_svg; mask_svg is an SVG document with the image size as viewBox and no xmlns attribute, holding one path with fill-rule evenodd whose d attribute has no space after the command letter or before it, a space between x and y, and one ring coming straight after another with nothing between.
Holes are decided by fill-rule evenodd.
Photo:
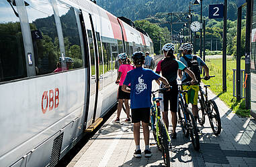
<instances>
[{"instance_id":1,"label":"train window above the \u00d6BB logo, reflecting the reversed number 2 sign","mask_svg":"<svg viewBox=\"0 0 256 167\"><path fill-rule=\"evenodd\" d=\"M60 50L52 5L48 0L26 0L32 33L36 75L52 73L56 69ZM59 64L60 67L60 64Z\"/></svg>"}]
</instances>

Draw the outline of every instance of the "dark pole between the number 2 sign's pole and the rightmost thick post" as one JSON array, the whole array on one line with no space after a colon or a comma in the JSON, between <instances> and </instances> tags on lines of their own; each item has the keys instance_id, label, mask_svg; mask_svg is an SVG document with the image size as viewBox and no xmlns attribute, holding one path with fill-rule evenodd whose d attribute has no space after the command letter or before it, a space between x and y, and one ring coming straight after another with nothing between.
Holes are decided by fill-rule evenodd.
<instances>
[{"instance_id":1,"label":"dark pole between the number 2 sign's pole and the rightmost thick post","mask_svg":"<svg viewBox=\"0 0 256 167\"><path fill-rule=\"evenodd\" d=\"M241 28L242 27L242 7L237 11L237 101L241 100Z\"/></svg>"}]
</instances>

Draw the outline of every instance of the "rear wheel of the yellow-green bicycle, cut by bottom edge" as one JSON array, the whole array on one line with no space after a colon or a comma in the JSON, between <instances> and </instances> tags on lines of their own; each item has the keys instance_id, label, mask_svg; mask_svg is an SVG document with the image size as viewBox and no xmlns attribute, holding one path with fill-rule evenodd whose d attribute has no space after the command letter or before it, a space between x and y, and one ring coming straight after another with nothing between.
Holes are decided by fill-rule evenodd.
<instances>
[{"instance_id":1,"label":"rear wheel of the yellow-green bicycle, cut by bottom edge","mask_svg":"<svg viewBox=\"0 0 256 167\"><path fill-rule=\"evenodd\" d=\"M165 166L170 166L169 142L167 137L167 131L162 120L159 120L159 130L161 136L163 160L165 162Z\"/></svg>"}]
</instances>

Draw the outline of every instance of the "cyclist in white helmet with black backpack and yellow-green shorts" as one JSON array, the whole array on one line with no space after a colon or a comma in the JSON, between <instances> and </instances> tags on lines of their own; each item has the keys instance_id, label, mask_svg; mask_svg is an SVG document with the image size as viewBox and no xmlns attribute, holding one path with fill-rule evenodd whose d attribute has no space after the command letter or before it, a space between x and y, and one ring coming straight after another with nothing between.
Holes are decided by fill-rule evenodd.
<instances>
[{"instance_id":1,"label":"cyclist in white helmet with black backpack and yellow-green shorts","mask_svg":"<svg viewBox=\"0 0 256 167\"><path fill-rule=\"evenodd\" d=\"M187 67L194 72L194 74L196 75L196 79L198 79L198 81L200 81L200 66L203 67L204 71L206 72L206 79L210 79L209 69L206 63L198 55L191 54L193 51L192 43L183 43L179 50L182 51L182 57L179 60L183 62L185 65L187 65ZM181 70L179 70L179 77L181 78L181 83L191 81L191 77L189 77L187 73L182 73ZM183 90L189 91L188 94L186 94L186 102L187 104L192 104L192 112L195 120L197 121L199 85L197 84L194 86L183 86L182 88Z\"/></svg>"}]
</instances>

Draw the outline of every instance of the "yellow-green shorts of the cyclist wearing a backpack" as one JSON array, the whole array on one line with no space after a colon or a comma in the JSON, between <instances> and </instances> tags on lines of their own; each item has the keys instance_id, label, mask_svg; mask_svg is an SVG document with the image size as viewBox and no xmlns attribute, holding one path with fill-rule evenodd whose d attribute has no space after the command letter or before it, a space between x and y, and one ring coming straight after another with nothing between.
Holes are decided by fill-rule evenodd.
<instances>
[{"instance_id":1,"label":"yellow-green shorts of the cyclist wearing a backpack","mask_svg":"<svg viewBox=\"0 0 256 167\"><path fill-rule=\"evenodd\" d=\"M185 100L187 104L198 105L198 91L199 86L182 86L182 90L187 90L187 94L185 95Z\"/></svg>"}]
</instances>

